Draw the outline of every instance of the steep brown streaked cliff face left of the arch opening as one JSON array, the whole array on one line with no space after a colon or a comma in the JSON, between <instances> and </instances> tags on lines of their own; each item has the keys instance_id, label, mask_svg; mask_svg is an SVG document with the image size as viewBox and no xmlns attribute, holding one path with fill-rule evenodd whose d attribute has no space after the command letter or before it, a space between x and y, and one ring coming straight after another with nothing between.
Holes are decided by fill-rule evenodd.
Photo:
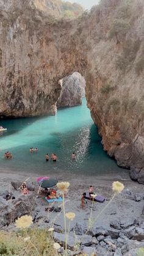
<instances>
[{"instance_id":1,"label":"steep brown streaked cliff face left of the arch opening","mask_svg":"<svg viewBox=\"0 0 144 256\"><path fill-rule=\"evenodd\" d=\"M73 24L55 23L28 0L4 1L0 17L1 117L55 114L59 79L78 70Z\"/></svg>"}]
</instances>

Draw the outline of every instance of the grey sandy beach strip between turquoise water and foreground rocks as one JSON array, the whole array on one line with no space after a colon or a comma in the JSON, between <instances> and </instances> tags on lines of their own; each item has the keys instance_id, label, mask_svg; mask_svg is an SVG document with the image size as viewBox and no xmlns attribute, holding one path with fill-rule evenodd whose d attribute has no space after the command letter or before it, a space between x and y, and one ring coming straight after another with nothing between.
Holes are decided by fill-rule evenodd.
<instances>
[{"instance_id":1,"label":"grey sandy beach strip between turquoise water and foreground rocks","mask_svg":"<svg viewBox=\"0 0 144 256\"><path fill-rule=\"evenodd\" d=\"M0 192L9 190L13 192L14 196L16 197L21 197L20 191L16 191L12 186L11 186L11 181L25 181L27 178L27 184L31 185L34 183L34 185L38 189L37 181L36 178L38 177L37 174L30 173L24 174L23 172L19 173L14 173L10 172L10 170L1 170L1 181L0 181ZM42 176L43 174L41 173L39 176ZM96 194L100 194L106 198L106 201L104 203L95 203L96 205L96 213L98 211L101 211L103 207L106 205L106 203L110 200L112 197L112 182L113 181L120 181L121 183L124 184L124 191L113 200L111 205L109 205L109 208L107 208L107 211L110 213L113 211L117 211L117 218L126 218L126 219L131 219L135 216L135 218L141 218L142 214L142 208L143 208L143 200L140 202L135 202L134 200L131 199L132 196L135 194L143 194L143 185L132 181L131 178L128 177L120 177L120 175L115 175L115 177L109 177L109 174L99 177L87 177L85 175L59 175L57 177L56 175L49 175L57 178L59 181L68 181L70 182L70 189L68 190L68 211L74 211L76 212L77 221L81 221L82 219L84 220L88 213L90 212L90 205L91 202L88 201L87 206L85 207L85 210L81 209L81 195L88 191L88 187L90 185L93 185L95 188ZM79 177L78 177L79 176ZM36 191L37 191L36 189ZM128 192L128 194L127 194ZM31 195L34 195L34 192L30 192ZM129 197L129 194L131 196ZM30 196L30 195L29 195ZM40 212L43 216L46 216L45 212L45 207L48 206L47 202L43 202L41 198L36 200L37 206L41 207ZM124 208L125 207L125 208ZM106 222L106 225L109 225L109 222L113 219L110 214L107 215L107 211L103 213L102 215L102 222L103 219ZM112 218L111 218L112 217ZM107 221L106 221L107 220ZM59 219L58 223L63 222L62 219ZM75 223L75 221L74 221Z\"/></svg>"}]
</instances>

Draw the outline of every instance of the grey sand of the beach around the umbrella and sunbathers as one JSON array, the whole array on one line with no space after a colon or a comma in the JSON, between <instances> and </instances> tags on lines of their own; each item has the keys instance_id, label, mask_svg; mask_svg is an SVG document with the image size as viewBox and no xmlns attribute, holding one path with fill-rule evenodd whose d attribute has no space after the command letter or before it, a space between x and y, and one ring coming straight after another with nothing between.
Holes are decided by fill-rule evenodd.
<instances>
[{"instance_id":1,"label":"grey sand of the beach around the umbrella and sunbathers","mask_svg":"<svg viewBox=\"0 0 144 256\"><path fill-rule=\"evenodd\" d=\"M42 176L42 174L40 175ZM54 174L51 174L52 177L55 177ZM20 197L20 192L10 186L11 181L27 181L29 184L36 181L38 176L35 174L24 174L23 172L12 172L10 170L1 170L1 186L0 192L4 192L5 190L9 190L15 195L16 199ZM65 198L66 200L66 209L67 211L72 211L76 214L76 218L72 222L72 226L76 224L76 222L87 222L90 216L90 210L92 207L92 202L87 200L87 205L85 209L81 208L81 195L82 193L88 191L88 187L93 185L95 188L96 194L103 195L106 197L106 201L104 203L94 203L93 207L93 217L95 218L97 214L105 207L105 205L109 202L112 197L112 182L113 181L121 181L125 188L124 191L115 197L115 199L110 203L107 210L101 214L101 216L96 221L96 225L109 227L109 224L113 220L122 220L129 221L131 219L140 219L142 220L142 208L143 208L143 200L140 202L135 202L132 200L132 197L135 194L143 194L143 185L139 183L135 183L129 178L128 172L125 175L115 174L110 177L110 174L102 175L102 176L94 176L88 177L86 175L74 175L74 174L63 174L57 175L59 181L69 181L70 189L68 191L68 195ZM37 184L37 183L35 183ZM37 186L38 189L38 186ZM36 194L36 192L30 192L30 194ZM131 194L131 196L129 196ZM45 208L48 207L48 203L42 199L42 197L38 197L36 199L37 206L35 210L38 211L38 215L43 216L43 218L48 218L48 212L45 211ZM56 204L57 205L57 204ZM60 205L60 203L59 203ZM55 219L55 224L61 225L63 227L63 214L50 213L50 219ZM45 227L45 223L41 220L38 223L39 226ZM12 228L12 226L11 226ZM10 227L9 227L10 229Z\"/></svg>"}]
</instances>

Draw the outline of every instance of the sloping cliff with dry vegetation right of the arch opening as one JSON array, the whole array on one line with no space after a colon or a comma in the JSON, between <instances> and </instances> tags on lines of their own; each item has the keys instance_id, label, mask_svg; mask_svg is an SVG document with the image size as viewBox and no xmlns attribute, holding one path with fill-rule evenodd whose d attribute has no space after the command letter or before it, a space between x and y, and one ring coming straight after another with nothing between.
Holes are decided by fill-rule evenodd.
<instances>
[{"instance_id":1,"label":"sloping cliff with dry vegetation right of the arch opening","mask_svg":"<svg viewBox=\"0 0 144 256\"><path fill-rule=\"evenodd\" d=\"M144 184L144 2L102 1L88 24L88 107L104 149Z\"/></svg>"}]
</instances>

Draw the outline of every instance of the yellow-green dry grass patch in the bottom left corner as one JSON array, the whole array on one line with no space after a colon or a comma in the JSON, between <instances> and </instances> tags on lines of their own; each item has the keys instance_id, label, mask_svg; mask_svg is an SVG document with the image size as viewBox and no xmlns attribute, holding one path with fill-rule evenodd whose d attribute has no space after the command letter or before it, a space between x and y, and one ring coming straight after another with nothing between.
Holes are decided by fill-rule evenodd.
<instances>
[{"instance_id":1,"label":"yellow-green dry grass patch in the bottom left corner","mask_svg":"<svg viewBox=\"0 0 144 256\"><path fill-rule=\"evenodd\" d=\"M0 255L58 255L52 236L44 229L0 232Z\"/></svg>"}]
</instances>

